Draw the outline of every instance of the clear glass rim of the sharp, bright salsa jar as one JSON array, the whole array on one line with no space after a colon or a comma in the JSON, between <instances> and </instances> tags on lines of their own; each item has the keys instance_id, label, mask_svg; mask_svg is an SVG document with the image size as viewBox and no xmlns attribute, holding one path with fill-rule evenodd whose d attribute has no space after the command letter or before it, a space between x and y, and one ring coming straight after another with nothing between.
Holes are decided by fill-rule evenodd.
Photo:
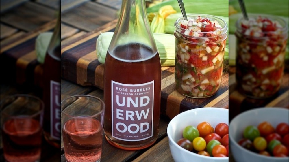
<instances>
[{"instance_id":1,"label":"clear glass rim of the sharp, bright salsa jar","mask_svg":"<svg viewBox=\"0 0 289 162\"><path fill-rule=\"evenodd\" d=\"M224 35L224 34L227 33L227 31L228 31L228 25L227 25L227 23L226 23L223 19L219 18L218 16L209 15L209 14L190 14L190 15L187 15L187 18L189 19L189 18L193 18L193 17L197 17L197 16L201 16L202 18L208 18L208 19L212 18L212 19L218 21L219 23L221 22L222 24L224 24L224 26L222 27L222 29L220 29L220 30L218 31L218 32L221 32L220 34L218 34L218 36L221 36L221 35ZM179 30L180 30L180 29L184 29L184 28L181 28L181 26L179 25L179 22L181 22L181 20L184 20L184 17L183 17L183 16L179 17L179 18L175 21L175 28L176 28L176 29L179 29ZM199 33L208 34L208 33L214 33L214 32L216 32L216 31L199 32ZM180 32L178 32L178 33L180 33ZM182 34L182 33L181 33L181 34ZM182 34L182 35L183 35L183 34ZM185 36L187 36L187 37L192 37L192 38L198 38L198 39L208 39L208 38L211 38L211 37L193 37L193 36L188 36L188 35L185 35ZM215 37L215 36L213 36L213 37Z\"/></svg>"}]
</instances>

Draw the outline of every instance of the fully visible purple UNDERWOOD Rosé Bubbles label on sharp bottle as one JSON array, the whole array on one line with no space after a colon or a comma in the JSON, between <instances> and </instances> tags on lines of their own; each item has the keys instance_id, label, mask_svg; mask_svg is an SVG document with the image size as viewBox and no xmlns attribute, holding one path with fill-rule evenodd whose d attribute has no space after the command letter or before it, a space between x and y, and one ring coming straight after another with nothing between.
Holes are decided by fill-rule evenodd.
<instances>
[{"instance_id":1,"label":"fully visible purple UNDERWOOD Ros\u00e9 Bubbles label on sharp bottle","mask_svg":"<svg viewBox=\"0 0 289 162\"><path fill-rule=\"evenodd\" d=\"M153 136L154 81L122 84L112 80L112 137L141 141Z\"/></svg>"}]
</instances>

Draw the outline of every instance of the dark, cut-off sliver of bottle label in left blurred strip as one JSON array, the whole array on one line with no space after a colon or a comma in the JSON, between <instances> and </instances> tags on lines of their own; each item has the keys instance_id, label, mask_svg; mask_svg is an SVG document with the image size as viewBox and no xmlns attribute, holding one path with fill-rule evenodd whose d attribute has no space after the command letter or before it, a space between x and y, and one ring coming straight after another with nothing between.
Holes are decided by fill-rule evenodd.
<instances>
[{"instance_id":1,"label":"dark, cut-off sliver of bottle label in left blurred strip","mask_svg":"<svg viewBox=\"0 0 289 162\"><path fill-rule=\"evenodd\" d=\"M60 83L50 81L50 135L60 140Z\"/></svg>"}]
</instances>

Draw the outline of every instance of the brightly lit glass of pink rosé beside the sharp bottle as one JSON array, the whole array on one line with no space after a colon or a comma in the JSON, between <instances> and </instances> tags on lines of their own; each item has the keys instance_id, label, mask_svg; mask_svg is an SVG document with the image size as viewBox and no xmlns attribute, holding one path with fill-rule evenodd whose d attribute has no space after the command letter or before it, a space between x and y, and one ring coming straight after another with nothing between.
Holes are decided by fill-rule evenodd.
<instances>
[{"instance_id":1,"label":"brightly lit glass of pink ros\u00e9 beside the sharp bottle","mask_svg":"<svg viewBox=\"0 0 289 162\"><path fill-rule=\"evenodd\" d=\"M100 162L104 102L90 95L75 95L61 102L61 127L67 162Z\"/></svg>"}]
</instances>

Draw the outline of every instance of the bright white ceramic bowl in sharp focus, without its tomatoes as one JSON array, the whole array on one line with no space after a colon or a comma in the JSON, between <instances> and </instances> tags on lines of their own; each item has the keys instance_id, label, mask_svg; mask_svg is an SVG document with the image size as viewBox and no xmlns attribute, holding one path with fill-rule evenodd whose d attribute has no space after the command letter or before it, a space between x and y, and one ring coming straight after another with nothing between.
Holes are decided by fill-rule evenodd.
<instances>
[{"instance_id":1,"label":"bright white ceramic bowl in sharp focus, without its tomatoes","mask_svg":"<svg viewBox=\"0 0 289 162\"><path fill-rule=\"evenodd\" d=\"M228 109L225 108L195 108L187 110L175 116L168 124L168 142L171 154L176 162L227 162L228 157L208 157L190 152L177 144L177 141L183 137L183 129L188 125L197 125L207 121L212 127L218 123L228 122Z\"/></svg>"}]
</instances>

